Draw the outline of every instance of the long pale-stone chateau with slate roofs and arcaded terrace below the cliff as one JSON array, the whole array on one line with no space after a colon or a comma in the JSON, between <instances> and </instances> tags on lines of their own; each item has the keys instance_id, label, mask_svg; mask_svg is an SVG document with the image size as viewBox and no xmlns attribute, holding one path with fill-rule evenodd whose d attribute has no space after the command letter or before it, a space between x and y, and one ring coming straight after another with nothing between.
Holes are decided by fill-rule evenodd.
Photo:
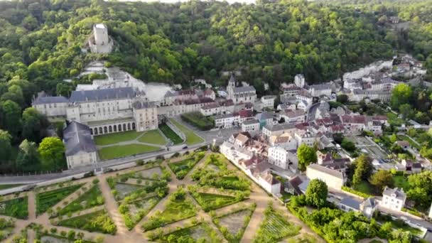
<instances>
[{"instance_id":1,"label":"long pale-stone chateau with slate roofs and arcaded terrace below the cliff","mask_svg":"<svg viewBox=\"0 0 432 243\"><path fill-rule=\"evenodd\" d=\"M92 135L158 127L156 106L146 102L144 94L133 87L73 91L69 99L38 97L33 100L33 107L48 117L65 117L85 124Z\"/></svg>"}]
</instances>

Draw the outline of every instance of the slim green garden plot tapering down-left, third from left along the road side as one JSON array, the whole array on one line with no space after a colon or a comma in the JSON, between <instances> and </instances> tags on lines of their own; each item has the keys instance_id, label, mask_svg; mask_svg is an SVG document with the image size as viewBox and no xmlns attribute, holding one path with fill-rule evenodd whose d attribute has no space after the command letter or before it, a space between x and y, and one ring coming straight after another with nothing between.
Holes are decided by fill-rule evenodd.
<instances>
[{"instance_id":1,"label":"slim green garden plot tapering down-left, third from left along the road side","mask_svg":"<svg viewBox=\"0 0 432 243\"><path fill-rule=\"evenodd\" d=\"M102 191L100 190L99 185L94 185L92 188L80 195L80 197L70 202L69 205L63 207L58 214L66 215L68 212L86 210L87 208L96 207L102 204L104 204Z\"/></svg>"}]
</instances>

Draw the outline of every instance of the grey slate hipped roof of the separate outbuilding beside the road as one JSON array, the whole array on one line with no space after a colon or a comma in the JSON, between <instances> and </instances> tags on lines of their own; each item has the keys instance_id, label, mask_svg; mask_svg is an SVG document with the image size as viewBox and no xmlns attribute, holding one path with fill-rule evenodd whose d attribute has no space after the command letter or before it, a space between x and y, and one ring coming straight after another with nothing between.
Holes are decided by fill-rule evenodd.
<instances>
[{"instance_id":1,"label":"grey slate hipped roof of the separate outbuilding beside the road","mask_svg":"<svg viewBox=\"0 0 432 243\"><path fill-rule=\"evenodd\" d=\"M63 130L63 141L66 146L66 156L73 156L80 151L87 153L97 151L95 141L93 141L92 134L90 134L90 128L77 121L72 121Z\"/></svg>"}]
</instances>

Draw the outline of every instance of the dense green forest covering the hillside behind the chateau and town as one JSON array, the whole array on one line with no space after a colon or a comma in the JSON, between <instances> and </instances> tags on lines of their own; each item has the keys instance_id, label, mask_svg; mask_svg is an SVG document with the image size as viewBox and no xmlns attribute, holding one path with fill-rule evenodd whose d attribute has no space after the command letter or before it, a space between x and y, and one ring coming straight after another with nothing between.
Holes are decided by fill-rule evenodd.
<instances>
[{"instance_id":1,"label":"dense green forest covering the hillside behind the chateau and town","mask_svg":"<svg viewBox=\"0 0 432 243\"><path fill-rule=\"evenodd\" d=\"M28 109L33 95L68 95L76 82L88 80L63 79L75 77L91 60L107 60L145 82L183 85L196 77L225 85L221 71L241 70L239 79L259 95L277 93L297 73L308 82L334 80L398 51L412 53L432 70L431 13L432 0L0 1L0 170L37 167L26 166L31 159L16 162L36 156L28 151L35 151L49 125ZM390 16L403 24L388 23ZM110 55L82 51L99 22L114 39ZM409 28L401 28L406 23ZM18 149L23 139L26 153Z\"/></svg>"}]
</instances>

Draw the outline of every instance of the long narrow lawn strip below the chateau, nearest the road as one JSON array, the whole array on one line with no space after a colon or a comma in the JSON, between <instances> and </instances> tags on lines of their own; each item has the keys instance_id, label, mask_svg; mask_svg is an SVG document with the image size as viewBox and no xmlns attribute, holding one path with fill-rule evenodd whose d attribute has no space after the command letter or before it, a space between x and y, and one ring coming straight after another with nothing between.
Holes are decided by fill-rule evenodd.
<instances>
[{"instance_id":1,"label":"long narrow lawn strip below the chateau, nearest the road","mask_svg":"<svg viewBox=\"0 0 432 243\"><path fill-rule=\"evenodd\" d=\"M112 158L121 158L131 156L139 153L148 153L158 151L161 148L155 146L148 146L144 144L128 144L119 146L109 146L99 149L99 158L108 160Z\"/></svg>"}]
</instances>

